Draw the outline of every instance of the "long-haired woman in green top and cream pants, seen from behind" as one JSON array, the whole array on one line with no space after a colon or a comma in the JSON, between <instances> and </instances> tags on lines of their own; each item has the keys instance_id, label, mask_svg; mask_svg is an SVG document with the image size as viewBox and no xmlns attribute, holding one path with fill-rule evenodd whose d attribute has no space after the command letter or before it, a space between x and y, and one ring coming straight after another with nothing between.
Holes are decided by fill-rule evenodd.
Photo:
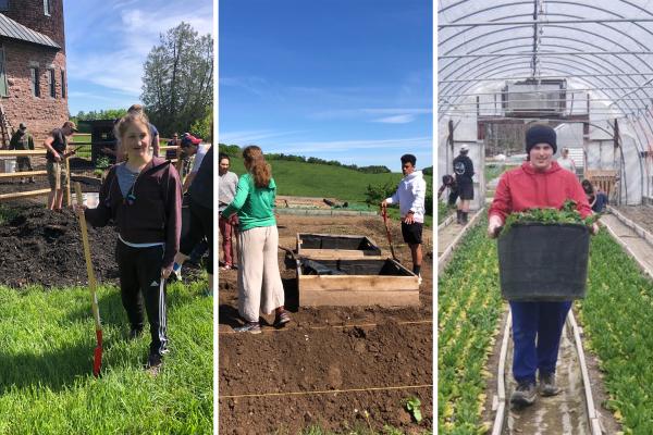
<instances>
[{"instance_id":1,"label":"long-haired woman in green top and cream pants, seen from behind","mask_svg":"<svg viewBox=\"0 0 653 435\"><path fill-rule=\"evenodd\" d=\"M247 173L241 176L234 200L220 213L229 220L238 214L238 312L245 320L236 332L260 334L259 311L274 312L274 327L291 321L284 309L279 272L279 232L274 217L276 184L272 167L256 145L243 150Z\"/></svg>"}]
</instances>

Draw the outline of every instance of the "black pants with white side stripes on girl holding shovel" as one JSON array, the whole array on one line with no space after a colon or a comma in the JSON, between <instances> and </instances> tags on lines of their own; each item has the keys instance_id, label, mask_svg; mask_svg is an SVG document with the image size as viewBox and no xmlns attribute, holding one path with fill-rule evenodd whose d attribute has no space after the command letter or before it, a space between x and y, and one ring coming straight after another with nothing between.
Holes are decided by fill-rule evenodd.
<instances>
[{"instance_id":1,"label":"black pants with white side stripes on girl holding shovel","mask_svg":"<svg viewBox=\"0 0 653 435\"><path fill-rule=\"evenodd\" d=\"M161 277L163 247L133 248L118 240L115 259L120 293L127 319L134 330L143 330L143 299L150 324L150 355L168 351L165 279Z\"/></svg>"}]
</instances>

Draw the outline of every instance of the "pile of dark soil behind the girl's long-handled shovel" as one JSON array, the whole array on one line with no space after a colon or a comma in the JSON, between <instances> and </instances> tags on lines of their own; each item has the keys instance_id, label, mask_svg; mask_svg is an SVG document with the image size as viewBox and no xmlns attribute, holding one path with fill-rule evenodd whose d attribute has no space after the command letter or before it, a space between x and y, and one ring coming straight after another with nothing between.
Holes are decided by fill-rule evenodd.
<instances>
[{"instance_id":1,"label":"pile of dark soil behind the girl's long-handled shovel","mask_svg":"<svg viewBox=\"0 0 653 435\"><path fill-rule=\"evenodd\" d=\"M0 284L87 285L79 222L71 210L51 212L33 201L12 201L3 209L9 219L0 225ZM97 281L115 282L115 231L89 226L88 237Z\"/></svg>"}]
</instances>

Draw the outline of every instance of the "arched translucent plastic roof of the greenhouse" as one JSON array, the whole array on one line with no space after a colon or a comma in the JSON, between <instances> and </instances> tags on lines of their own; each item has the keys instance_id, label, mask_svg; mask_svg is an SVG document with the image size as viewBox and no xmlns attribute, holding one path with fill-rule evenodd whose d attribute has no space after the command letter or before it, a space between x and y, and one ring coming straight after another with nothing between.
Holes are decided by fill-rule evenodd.
<instances>
[{"instance_id":1,"label":"arched translucent plastic roof of the greenhouse","mask_svg":"<svg viewBox=\"0 0 653 435\"><path fill-rule=\"evenodd\" d=\"M440 0L438 26L441 119L506 80L553 78L609 117L653 121L651 0Z\"/></svg>"}]
</instances>

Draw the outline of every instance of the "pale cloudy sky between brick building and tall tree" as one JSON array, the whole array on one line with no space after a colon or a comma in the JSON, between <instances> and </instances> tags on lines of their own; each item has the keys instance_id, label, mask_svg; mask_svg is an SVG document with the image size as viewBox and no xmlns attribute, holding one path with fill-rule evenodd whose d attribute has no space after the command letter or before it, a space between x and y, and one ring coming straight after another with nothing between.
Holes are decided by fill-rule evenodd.
<instances>
[{"instance_id":1,"label":"pale cloudy sky between brick building and tall tree","mask_svg":"<svg viewBox=\"0 0 653 435\"><path fill-rule=\"evenodd\" d=\"M213 0L65 0L69 109L139 101L143 64L159 35L182 21L213 33Z\"/></svg>"}]
</instances>

